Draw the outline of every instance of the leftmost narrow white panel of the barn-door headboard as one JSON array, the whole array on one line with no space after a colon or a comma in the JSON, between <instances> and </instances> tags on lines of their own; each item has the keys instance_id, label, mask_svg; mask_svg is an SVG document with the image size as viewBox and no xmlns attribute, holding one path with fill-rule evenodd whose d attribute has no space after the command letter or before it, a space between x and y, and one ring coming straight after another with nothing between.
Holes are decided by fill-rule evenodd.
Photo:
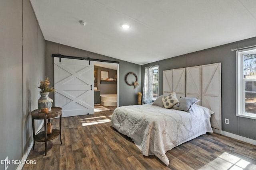
<instances>
[{"instance_id":1,"label":"leftmost narrow white panel of the barn-door headboard","mask_svg":"<svg viewBox=\"0 0 256 170\"><path fill-rule=\"evenodd\" d=\"M172 93L172 70L163 71L163 95Z\"/></svg>"}]
</instances>

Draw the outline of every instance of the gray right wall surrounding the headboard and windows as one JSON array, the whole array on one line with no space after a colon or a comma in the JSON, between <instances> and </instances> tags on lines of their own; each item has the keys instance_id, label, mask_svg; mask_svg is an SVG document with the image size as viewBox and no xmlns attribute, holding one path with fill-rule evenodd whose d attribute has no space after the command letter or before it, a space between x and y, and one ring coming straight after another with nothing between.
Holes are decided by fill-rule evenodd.
<instances>
[{"instance_id":1,"label":"gray right wall surrounding the headboard and windows","mask_svg":"<svg viewBox=\"0 0 256 170\"><path fill-rule=\"evenodd\" d=\"M231 51L231 49L252 45L256 45L256 37L142 65L142 83L144 83L144 67L159 65L159 93L161 95L163 70L221 63L222 130L256 140L256 131L251 130L252 127L256 127L256 120L236 116L236 51ZM229 124L224 123L225 118L229 119Z\"/></svg>"}]
</instances>

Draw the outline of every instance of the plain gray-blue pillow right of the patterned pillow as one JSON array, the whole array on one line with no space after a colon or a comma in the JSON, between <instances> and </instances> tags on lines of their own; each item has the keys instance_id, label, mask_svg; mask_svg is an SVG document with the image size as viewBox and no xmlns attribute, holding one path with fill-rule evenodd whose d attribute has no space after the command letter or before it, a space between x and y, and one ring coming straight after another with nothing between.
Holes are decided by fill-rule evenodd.
<instances>
[{"instance_id":1,"label":"plain gray-blue pillow right of the patterned pillow","mask_svg":"<svg viewBox=\"0 0 256 170\"><path fill-rule=\"evenodd\" d=\"M172 108L177 110L183 110L189 112L191 107L196 104L196 102L199 102L200 99L196 98L179 98L178 99L180 103L174 105Z\"/></svg>"}]
</instances>

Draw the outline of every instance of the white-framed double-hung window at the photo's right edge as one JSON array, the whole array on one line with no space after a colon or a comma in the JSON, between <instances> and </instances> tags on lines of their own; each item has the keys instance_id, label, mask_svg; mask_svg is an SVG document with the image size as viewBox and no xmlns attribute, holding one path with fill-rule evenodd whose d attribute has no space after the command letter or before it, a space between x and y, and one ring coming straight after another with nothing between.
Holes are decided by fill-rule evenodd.
<instances>
[{"instance_id":1,"label":"white-framed double-hung window at the photo's right edge","mask_svg":"<svg viewBox=\"0 0 256 170\"><path fill-rule=\"evenodd\" d=\"M256 119L256 48L236 52L236 115Z\"/></svg>"}]
</instances>

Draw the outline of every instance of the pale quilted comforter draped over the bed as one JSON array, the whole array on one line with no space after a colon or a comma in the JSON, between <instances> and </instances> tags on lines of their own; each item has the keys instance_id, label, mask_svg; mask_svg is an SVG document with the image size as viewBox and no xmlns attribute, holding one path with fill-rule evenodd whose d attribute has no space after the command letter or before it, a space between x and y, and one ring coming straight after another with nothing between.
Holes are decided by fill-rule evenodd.
<instances>
[{"instance_id":1,"label":"pale quilted comforter draped over the bed","mask_svg":"<svg viewBox=\"0 0 256 170\"><path fill-rule=\"evenodd\" d=\"M168 150L212 132L210 116L213 113L198 105L194 105L189 113L151 104L122 106L114 110L112 126L132 138L142 154L154 154L168 165L165 154Z\"/></svg>"}]
</instances>

